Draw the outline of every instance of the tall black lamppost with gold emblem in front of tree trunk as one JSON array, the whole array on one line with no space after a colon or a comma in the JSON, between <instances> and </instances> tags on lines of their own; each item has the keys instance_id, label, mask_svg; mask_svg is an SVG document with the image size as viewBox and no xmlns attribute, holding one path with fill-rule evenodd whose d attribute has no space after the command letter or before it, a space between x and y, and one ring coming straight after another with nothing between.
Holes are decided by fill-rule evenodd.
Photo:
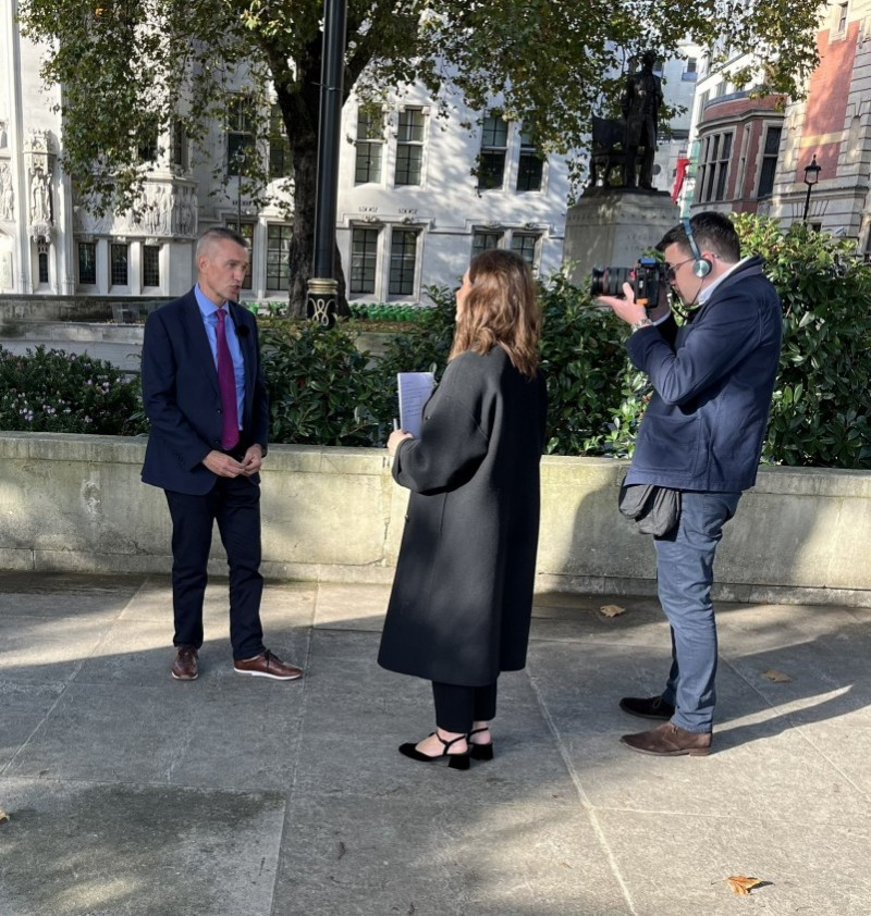
<instances>
[{"instance_id":1,"label":"tall black lamppost with gold emblem in front of tree trunk","mask_svg":"<svg viewBox=\"0 0 871 916\"><path fill-rule=\"evenodd\" d=\"M306 314L331 327L335 323L335 212L339 203L339 145L342 79L345 66L347 0L323 0L323 53L320 67L318 183L315 193L315 258L308 281Z\"/></svg>"}]
</instances>

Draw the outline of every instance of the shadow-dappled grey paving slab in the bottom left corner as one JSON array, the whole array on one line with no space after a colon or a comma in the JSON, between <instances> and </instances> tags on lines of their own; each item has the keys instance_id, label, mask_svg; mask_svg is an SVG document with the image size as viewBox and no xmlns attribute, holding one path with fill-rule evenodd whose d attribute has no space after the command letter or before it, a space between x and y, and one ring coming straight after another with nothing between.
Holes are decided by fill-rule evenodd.
<instances>
[{"instance_id":1,"label":"shadow-dappled grey paving slab in the bottom left corner","mask_svg":"<svg viewBox=\"0 0 871 916\"><path fill-rule=\"evenodd\" d=\"M280 793L3 779L4 916L269 913Z\"/></svg>"}]
</instances>

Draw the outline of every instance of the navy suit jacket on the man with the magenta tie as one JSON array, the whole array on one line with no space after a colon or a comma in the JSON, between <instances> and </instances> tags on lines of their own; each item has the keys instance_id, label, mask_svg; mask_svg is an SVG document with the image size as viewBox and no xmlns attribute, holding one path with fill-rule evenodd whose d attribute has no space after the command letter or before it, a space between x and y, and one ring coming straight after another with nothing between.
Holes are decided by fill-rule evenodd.
<instances>
[{"instance_id":1,"label":"navy suit jacket on the man with the magenta tie","mask_svg":"<svg viewBox=\"0 0 871 916\"><path fill-rule=\"evenodd\" d=\"M259 443L266 455L269 395L257 322L235 302L229 302L228 308L245 362L241 445L247 448ZM151 422L143 481L177 493L205 495L217 480L203 459L213 449L221 450L221 395L193 289L148 317L142 377L143 403ZM259 478L254 475L250 481L257 484Z\"/></svg>"}]
</instances>

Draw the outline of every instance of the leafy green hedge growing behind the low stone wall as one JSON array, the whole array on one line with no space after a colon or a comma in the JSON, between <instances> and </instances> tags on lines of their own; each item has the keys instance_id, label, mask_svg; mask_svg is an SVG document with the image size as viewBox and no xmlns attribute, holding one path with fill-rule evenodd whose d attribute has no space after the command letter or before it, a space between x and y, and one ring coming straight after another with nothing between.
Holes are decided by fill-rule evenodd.
<instances>
[{"instance_id":1,"label":"leafy green hedge growing behind the low stone wall","mask_svg":"<svg viewBox=\"0 0 871 916\"><path fill-rule=\"evenodd\" d=\"M784 349L763 460L871 468L871 265L855 243L795 224L735 220L745 253L759 252L784 305ZM382 446L396 414L396 372L444 371L453 294L427 289L431 308L379 357L355 345L356 322L323 331L270 320L262 329L273 442ZM626 330L586 288L555 275L540 284L541 366L550 392L547 450L628 456L650 396L627 361ZM131 434L145 429L137 383L109 363L38 349L0 351L0 426Z\"/></svg>"}]
</instances>

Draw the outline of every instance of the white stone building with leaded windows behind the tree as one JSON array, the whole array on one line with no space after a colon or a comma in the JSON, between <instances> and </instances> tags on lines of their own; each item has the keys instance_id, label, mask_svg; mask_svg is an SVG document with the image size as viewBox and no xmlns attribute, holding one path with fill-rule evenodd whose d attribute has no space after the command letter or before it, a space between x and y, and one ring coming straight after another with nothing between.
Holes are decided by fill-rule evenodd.
<instances>
[{"instance_id":1,"label":"white stone building with leaded windows behind the tree","mask_svg":"<svg viewBox=\"0 0 871 916\"><path fill-rule=\"evenodd\" d=\"M236 152L254 144L240 95L225 123L212 124L205 153L181 133L158 138L155 150L144 151L155 168L137 210L95 216L73 199L60 168L54 107L62 89L44 88L42 49L21 36L15 3L0 5L0 293L179 295L193 283L197 234L231 225L252 246L244 298L286 300L293 163L280 119L260 147L273 178L267 206L253 203L237 174ZM694 63L666 63L672 104L686 104ZM663 141L657 159L661 190L671 189L688 133L683 121L673 126L675 138ZM495 108L482 117L458 110L444 121L410 87L380 119L352 97L342 133L336 228L352 301L421 301L426 286L455 285L470 257L492 246L520 252L539 275L559 269L566 160L540 159L523 125Z\"/></svg>"}]
</instances>

